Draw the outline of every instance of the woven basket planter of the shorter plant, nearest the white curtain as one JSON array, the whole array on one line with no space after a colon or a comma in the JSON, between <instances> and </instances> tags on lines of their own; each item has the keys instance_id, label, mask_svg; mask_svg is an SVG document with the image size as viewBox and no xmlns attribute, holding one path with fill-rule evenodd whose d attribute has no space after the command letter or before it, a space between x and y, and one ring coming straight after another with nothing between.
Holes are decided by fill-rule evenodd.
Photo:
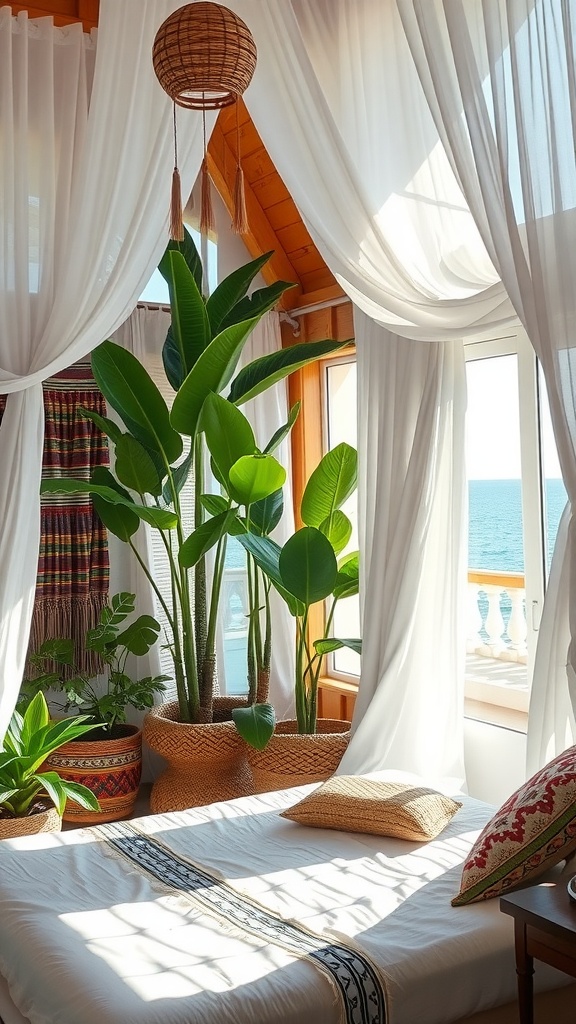
<instances>
[{"instance_id":1,"label":"woven basket planter of the shorter plant, nearest the white curtain","mask_svg":"<svg viewBox=\"0 0 576 1024\"><path fill-rule=\"evenodd\" d=\"M348 744L349 722L319 718L317 731L300 734L295 721L278 722L263 751L247 746L254 793L324 782Z\"/></svg>"}]
</instances>

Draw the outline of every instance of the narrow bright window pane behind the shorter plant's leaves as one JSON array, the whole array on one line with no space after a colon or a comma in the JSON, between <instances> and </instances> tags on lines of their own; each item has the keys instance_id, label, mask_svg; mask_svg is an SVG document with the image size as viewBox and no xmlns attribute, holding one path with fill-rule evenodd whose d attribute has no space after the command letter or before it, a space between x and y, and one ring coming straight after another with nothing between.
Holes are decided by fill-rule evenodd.
<instances>
[{"instance_id":1,"label":"narrow bright window pane behind the shorter plant's leaves","mask_svg":"<svg viewBox=\"0 0 576 1024\"><path fill-rule=\"evenodd\" d=\"M341 441L357 446L356 361L331 362L326 367L326 422L328 449ZM353 524L351 541L342 554L358 550L358 499L356 494L342 506ZM360 601L347 597L338 601L333 622L336 637L360 636ZM343 647L331 656L331 671L346 676L360 676L360 655Z\"/></svg>"}]
</instances>

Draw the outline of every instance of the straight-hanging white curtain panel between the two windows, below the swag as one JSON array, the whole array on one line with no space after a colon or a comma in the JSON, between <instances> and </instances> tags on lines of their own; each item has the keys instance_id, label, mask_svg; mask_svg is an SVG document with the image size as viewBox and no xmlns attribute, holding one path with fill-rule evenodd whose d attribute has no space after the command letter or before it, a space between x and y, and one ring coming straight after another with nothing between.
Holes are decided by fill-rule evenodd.
<instances>
[{"instance_id":1,"label":"straight-hanging white curtain panel between the two windows, below the swag","mask_svg":"<svg viewBox=\"0 0 576 1024\"><path fill-rule=\"evenodd\" d=\"M398 338L358 310L355 327L359 393L373 410L359 428L361 597L371 642L364 648L355 740L339 772L375 771L384 762L458 784L466 567L463 348Z\"/></svg>"}]
</instances>

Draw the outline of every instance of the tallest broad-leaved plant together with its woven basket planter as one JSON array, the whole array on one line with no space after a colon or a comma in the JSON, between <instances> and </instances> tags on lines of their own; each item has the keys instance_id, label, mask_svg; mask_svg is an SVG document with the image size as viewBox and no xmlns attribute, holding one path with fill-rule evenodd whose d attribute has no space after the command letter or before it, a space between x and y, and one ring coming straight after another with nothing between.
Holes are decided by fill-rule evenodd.
<instances>
[{"instance_id":1,"label":"tallest broad-leaved plant together with its woven basket planter","mask_svg":"<svg viewBox=\"0 0 576 1024\"><path fill-rule=\"evenodd\" d=\"M166 760L174 758L172 767L168 764L153 786L151 803L158 811L240 796L248 779L243 745L233 723L214 723L214 728L206 729L213 719L216 617L225 544L239 506L216 511L210 502L213 496L202 497L204 403L229 388L225 401L234 409L292 371L341 347L333 341L290 346L253 360L234 376L251 331L286 288L292 287L278 282L248 296L254 276L271 255L265 253L234 271L206 298L201 261L190 234L181 244L169 244L160 269L168 282L172 310L163 350L166 376L175 392L171 409L130 352L104 342L92 354L92 369L125 429L93 413L86 415L114 447L114 471L95 470L88 482L51 479L42 484L43 492L91 494L107 527L128 543L137 558L132 538L140 520L161 532L170 569L169 601L142 568L168 622L177 700L155 708L145 721L150 745ZM236 452L234 417L222 421L221 428L225 443ZM284 429L290 429L290 421ZM277 443L282 436L281 431ZM245 460L242 471L247 486L251 479L259 481L265 475L264 463L270 470L271 489L260 487L258 500L278 489L282 474L271 450L261 453L254 443L250 455L243 449L239 458ZM195 488L195 528L187 535L180 493L190 474ZM252 503L255 495L256 490ZM215 555L209 585L205 559L211 548ZM252 687L249 699L255 698Z\"/></svg>"}]
</instances>

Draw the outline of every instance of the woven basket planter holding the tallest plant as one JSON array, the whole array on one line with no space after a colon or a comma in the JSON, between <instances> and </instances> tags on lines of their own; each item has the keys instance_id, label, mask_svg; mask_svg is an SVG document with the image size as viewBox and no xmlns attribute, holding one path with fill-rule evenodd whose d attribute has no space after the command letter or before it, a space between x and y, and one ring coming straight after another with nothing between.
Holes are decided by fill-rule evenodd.
<instances>
[{"instance_id":1,"label":"woven basket planter holding the tallest plant","mask_svg":"<svg viewBox=\"0 0 576 1024\"><path fill-rule=\"evenodd\" d=\"M246 748L233 722L179 722L177 701L170 700L148 713L143 736L167 762L152 786L150 806L155 814L253 792Z\"/></svg>"}]
</instances>

